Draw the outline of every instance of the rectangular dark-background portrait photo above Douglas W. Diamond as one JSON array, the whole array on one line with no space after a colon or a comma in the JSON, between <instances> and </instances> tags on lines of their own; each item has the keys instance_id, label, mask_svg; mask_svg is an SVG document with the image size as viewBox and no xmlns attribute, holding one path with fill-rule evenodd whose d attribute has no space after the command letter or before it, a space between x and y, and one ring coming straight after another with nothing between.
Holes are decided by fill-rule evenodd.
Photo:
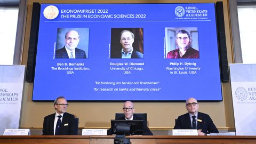
<instances>
[{"instance_id":1,"label":"rectangular dark-background portrait photo above Douglas W. Diamond","mask_svg":"<svg viewBox=\"0 0 256 144\"><path fill-rule=\"evenodd\" d=\"M142 28L111 28L110 58L143 59Z\"/></svg>"}]
</instances>

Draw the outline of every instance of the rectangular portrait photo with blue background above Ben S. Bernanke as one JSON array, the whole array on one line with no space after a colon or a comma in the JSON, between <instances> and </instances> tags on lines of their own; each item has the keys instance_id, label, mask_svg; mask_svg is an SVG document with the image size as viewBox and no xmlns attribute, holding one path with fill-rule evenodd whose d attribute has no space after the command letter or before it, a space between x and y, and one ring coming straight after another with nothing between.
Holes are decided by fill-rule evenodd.
<instances>
[{"instance_id":1,"label":"rectangular portrait photo with blue background above Ben S. Bernanke","mask_svg":"<svg viewBox=\"0 0 256 144\"><path fill-rule=\"evenodd\" d=\"M58 28L55 59L86 59L88 49L89 28Z\"/></svg>"}]
</instances>

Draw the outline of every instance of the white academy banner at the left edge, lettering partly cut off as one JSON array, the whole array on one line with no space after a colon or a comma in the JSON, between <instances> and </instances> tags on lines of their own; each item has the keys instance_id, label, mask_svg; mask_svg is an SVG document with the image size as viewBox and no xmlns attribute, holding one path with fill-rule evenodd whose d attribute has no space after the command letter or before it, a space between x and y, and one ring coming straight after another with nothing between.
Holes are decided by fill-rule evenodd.
<instances>
[{"instance_id":1,"label":"white academy banner at the left edge, lettering partly cut off","mask_svg":"<svg viewBox=\"0 0 256 144\"><path fill-rule=\"evenodd\" d=\"M25 66L0 66L0 134L18 129Z\"/></svg>"}]
</instances>

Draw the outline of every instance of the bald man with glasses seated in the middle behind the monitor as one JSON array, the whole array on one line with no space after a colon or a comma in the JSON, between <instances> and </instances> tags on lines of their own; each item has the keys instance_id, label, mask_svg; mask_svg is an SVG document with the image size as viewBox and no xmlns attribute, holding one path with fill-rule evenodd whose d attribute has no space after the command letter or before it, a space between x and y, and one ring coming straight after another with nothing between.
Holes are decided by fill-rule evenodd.
<instances>
[{"instance_id":1,"label":"bald man with glasses seated in the middle behind the monitor","mask_svg":"<svg viewBox=\"0 0 256 144\"><path fill-rule=\"evenodd\" d=\"M133 106L133 103L131 101L124 102L124 116L121 118L118 118L116 120L143 120L141 117L137 117L133 115L135 109ZM153 135L153 133L148 129L147 122L143 121L143 135ZM108 129L108 135L112 135L112 129Z\"/></svg>"}]
</instances>

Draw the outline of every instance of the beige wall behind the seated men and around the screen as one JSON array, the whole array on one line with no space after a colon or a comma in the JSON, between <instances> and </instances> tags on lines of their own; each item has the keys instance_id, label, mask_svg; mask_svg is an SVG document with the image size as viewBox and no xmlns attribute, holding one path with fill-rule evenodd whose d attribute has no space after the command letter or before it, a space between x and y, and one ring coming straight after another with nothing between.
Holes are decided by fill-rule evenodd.
<instances>
[{"instance_id":1,"label":"beige wall behind the seated men and around the screen","mask_svg":"<svg viewBox=\"0 0 256 144\"><path fill-rule=\"evenodd\" d=\"M56 1L33 1L28 0L26 30L23 45L22 65L27 64L29 33L31 23L31 11L33 2L54 3ZM107 1L58 1L58 3L110 3ZM127 1L124 3L203 3L213 2L213 0L197 1ZM111 3L120 3L111 1ZM228 63L233 63L233 51L231 45L231 33L229 23L228 0L223 0L225 15L225 28L227 40ZM211 65L211 63L209 63ZM46 90L47 91L47 90ZM23 92L23 102L21 111L20 127L22 128L41 128L43 127L43 118L46 115L55 112L53 102L33 102L31 101L33 93L33 83L25 83ZM209 90L211 93L211 90ZM231 101L230 83L222 83L223 101L204 102L199 104L199 110L209 114L218 129L234 129L233 106ZM205 93L207 95L207 93ZM58 95L57 95L58 96ZM193 95L188 95L191 97ZM115 113L122 113L121 102L69 102L68 112L79 117L79 127L109 127L110 119L115 118ZM148 125L151 129L172 129L174 119L179 115L186 113L185 103L183 102L136 102L135 111L137 113L148 113Z\"/></svg>"}]
</instances>

